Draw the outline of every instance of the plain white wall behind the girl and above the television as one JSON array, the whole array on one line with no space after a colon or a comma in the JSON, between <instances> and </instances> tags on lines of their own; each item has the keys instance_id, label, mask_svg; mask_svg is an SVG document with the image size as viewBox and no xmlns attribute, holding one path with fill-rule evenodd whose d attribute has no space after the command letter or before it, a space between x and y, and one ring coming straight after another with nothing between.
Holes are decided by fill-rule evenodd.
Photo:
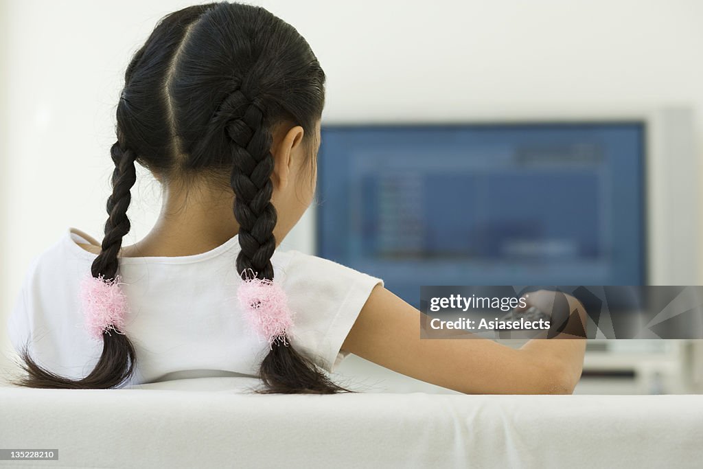
<instances>
[{"instance_id":1,"label":"plain white wall behind the girl and above the television","mask_svg":"<svg viewBox=\"0 0 703 469\"><path fill-rule=\"evenodd\" d=\"M512 105L703 109L703 2L695 0L254 3L316 51L328 120L449 118ZM0 0L1 330L32 257L67 226L100 237L124 67L158 18L188 4ZM150 229L156 184L140 178L133 200L125 243Z\"/></svg>"}]
</instances>

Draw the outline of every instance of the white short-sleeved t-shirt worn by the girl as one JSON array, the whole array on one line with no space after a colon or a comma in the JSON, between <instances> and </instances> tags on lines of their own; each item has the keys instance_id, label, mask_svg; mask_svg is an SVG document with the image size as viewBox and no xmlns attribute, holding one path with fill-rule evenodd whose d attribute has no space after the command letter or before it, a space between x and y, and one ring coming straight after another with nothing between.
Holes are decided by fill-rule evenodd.
<instances>
[{"instance_id":1,"label":"white short-sleeved t-shirt worn by the girl","mask_svg":"<svg viewBox=\"0 0 703 469\"><path fill-rule=\"evenodd\" d=\"M87 375L103 349L102 340L84 329L79 300L79 284L97 255L77 242L91 240L67 229L34 259L8 321L15 349L29 340L39 365L72 379ZM137 362L128 385L258 375L269 344L250 332L240 314L239 251L234 236L198 255L120 258L118 274L130 309L124 333L136 348ZM371 290L383 281L295 250L276 250L271 263L274 281L295 314L290 342L324 370L335 371L349 354L340 350L344 339Z\"/></svg>"}]
</instances>

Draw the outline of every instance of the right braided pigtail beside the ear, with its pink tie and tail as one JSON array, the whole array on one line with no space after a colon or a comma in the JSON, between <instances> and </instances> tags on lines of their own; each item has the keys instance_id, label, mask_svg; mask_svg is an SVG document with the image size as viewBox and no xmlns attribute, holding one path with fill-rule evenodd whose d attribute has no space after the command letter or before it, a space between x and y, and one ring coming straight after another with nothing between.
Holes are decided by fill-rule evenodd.
<instances>
[{"instance_id":1,"label":"right braided pigtail beside the ear, with its pink tie and tail","mask_svg":"<svg viewBox=\"0 0 703 469\"><path fill-rule=\"evenodd\" d=\"M221 113L231 112L243 115L226 124L226 132L231 139L233 169L231 187L235 193L234 216L239 223L240 253L237 257L237 271L246 279L254 281L254 292L263 293L253 307L259 317L259 330L267 335L271 347L264 357L259 371L266 390L262 393L315 393L333 394L349 390L333 383L316 364L307 359L292 346L287 337L291 316L285 304L285 294L273 282L271 256L276 250L276 208L271 203L273 193L273 155L271 155L271 133L264 122L264 105L257 98L250 100L242 91L234 91L226 98ZM250 285L247 288L248 302L254 301ZM273 295L273 300L272 300ZM266 306L266 307L262 307ZM270 311L271 307L274 311ZM269 310L267 310L269 309ZM254 321L257 322L257 321Z\"/></svg>"}]
</instances>

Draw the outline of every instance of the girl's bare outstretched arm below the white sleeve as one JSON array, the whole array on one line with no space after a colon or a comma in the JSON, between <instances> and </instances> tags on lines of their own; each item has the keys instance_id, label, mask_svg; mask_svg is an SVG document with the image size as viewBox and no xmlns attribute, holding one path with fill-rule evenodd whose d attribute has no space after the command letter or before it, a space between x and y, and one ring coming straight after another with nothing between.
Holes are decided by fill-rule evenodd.
<instances>
[{"instance_id":1,"label":"girl's bare outstretched arm below the white sleeve","mask_svg":"<svg viewBox=\"0 0 703 469\"><path fill-rule=\"evenodd\" d=\"M581 304L567 298L585 319ZM571 394L581 377L582 338L530 340L520 349L482 338L420 339L421 316L426 315L376 285L342 349L466 394Z\"/></svg>"}]
</instances>

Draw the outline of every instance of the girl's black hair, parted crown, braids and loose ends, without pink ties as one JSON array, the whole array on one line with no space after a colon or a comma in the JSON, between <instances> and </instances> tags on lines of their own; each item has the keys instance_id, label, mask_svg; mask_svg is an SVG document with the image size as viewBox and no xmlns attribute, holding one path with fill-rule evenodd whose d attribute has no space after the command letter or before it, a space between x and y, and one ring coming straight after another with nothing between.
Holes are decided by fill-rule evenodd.
<instances>
[{"instance_id":1,"label":"girl's black hair, parted crown, braids and loose ends, without pink ties","mask_svg":"<svg viewBox=\"0 0 703 469\"><path fill-rule=\"evenodd\" d=\"M325 101L325 74L307 41L264 8L218 2L166 15L127 66L117 105L115 170L108 221L94 277L117 275L127 208L138 162L162 183L205 176L234 193L240 253L236 269L273 280L276 249L271 203L273 126L304 129L306 148L316 148L314 126ZM309 151L314 162L314 151ZM71 380L20 352L26 376L16 384L45 388L111 388L131 378L134 345L120 330L105 330L103 353L85 378ZM289 340L277 340L262 361L259 392L349 392L333 383Z\"/></svg>"}]
</instances>

